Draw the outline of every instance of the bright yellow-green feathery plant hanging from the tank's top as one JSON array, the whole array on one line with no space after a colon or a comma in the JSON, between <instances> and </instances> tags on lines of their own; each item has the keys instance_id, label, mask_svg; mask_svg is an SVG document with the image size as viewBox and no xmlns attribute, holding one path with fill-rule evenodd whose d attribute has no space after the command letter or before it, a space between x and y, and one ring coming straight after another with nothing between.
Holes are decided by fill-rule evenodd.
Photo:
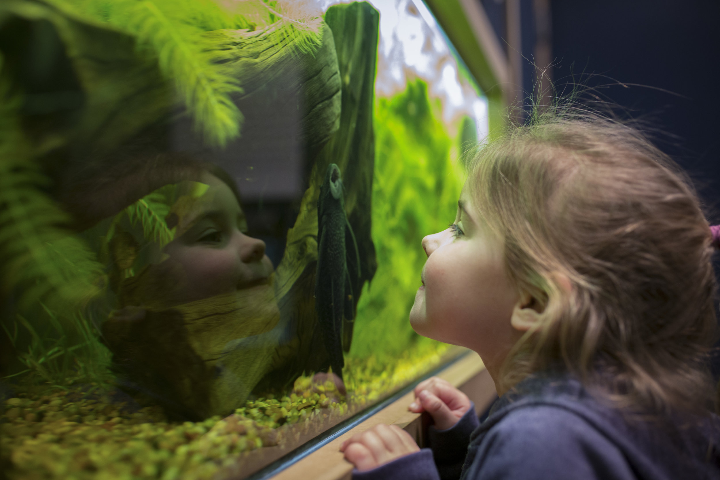
<instances>
[{"instance_id":1,"label":"bright yellow-green feathery plant hanging from the tank's top","mask_svg":"<svg viewBox=\"0 0 720 480\"><path fill-rule=\"evenodd\" d=\"M238 76L225 69L225 50L217 48L219 43L270 37L284 44L282 55L269 60L273 62L320 45L322 12L314 7L315 1L53 0L53 4L135 36L140 53L156 58L163 76L174 83L195 129L217 147L238 137L243 122L233 102L243 89Z\"/></svg>"}]
</instances>

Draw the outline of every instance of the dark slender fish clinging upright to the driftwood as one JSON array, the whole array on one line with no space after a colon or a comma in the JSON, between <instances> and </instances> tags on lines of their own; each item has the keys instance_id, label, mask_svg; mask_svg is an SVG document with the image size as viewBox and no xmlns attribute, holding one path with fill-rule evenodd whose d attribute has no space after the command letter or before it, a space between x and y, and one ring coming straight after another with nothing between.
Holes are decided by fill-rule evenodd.
<instances>
[{"instance_id":1,"label":"dark slender fish clinging upright to the driftwood","mask_svg":"<svg viewBox=\"0 0 720 480\"><path fill-rule=\"evenodd\" d=\"M340 168L330 163L318 199L318 268L315 312L333 372L343 378L343 350L350 350L359 295L360 255L345 215Z\"/></svg>"}]
</instances>

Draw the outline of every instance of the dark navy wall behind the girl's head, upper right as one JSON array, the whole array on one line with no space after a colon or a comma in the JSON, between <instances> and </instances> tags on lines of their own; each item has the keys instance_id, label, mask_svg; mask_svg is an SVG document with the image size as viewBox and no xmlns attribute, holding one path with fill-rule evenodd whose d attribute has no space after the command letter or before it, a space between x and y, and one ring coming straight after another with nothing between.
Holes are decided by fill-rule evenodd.
<instances>
[{"instance_id":1,"label":"dark navy wall behind the girl's head, upper right","mask_svg":"<svg viewBox=\"0 0 720 480\"><path fill-rule=\"evenodd\" d=\"M500 43L505 0L480 0ZM522 86L533 91L539 2L519 0ZM549 0L558 91L595 87L685 168L711 223L720 223L719 0ZM621 85L624 84L624 85Z\"/></svg>"}]
</instances>

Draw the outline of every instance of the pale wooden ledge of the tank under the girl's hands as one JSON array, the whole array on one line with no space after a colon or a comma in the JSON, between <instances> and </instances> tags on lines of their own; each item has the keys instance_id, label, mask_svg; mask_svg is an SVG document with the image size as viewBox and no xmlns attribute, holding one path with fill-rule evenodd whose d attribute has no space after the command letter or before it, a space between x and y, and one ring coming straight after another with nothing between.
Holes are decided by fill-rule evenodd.
<instances>
[{"instance_id":1,"label":"pale wooden ledge of the tank under the girl's hands","mask_svg":"<svg viewBox=\"0 0 720 480\"><path fill-rule=\"evenodd\" d=\"M477 353L468 353L459 361L442 370L437 376L464 391L475 403L477 412L484 411L495 398L495 384L492 383L490 374L485 370ZM413 392L408 392L343 435L285 468L272 479L350 480L353 466L343 458L340 445L356 433L364 432L380 423L400 425L410 435L413 435L418 445L424 446L426 439L423 437L423 432L427 430L428 417L427 414L420 415L408 411L408 405L413 402L413 399L415 399Z\"/></svg>"}]
</instances>

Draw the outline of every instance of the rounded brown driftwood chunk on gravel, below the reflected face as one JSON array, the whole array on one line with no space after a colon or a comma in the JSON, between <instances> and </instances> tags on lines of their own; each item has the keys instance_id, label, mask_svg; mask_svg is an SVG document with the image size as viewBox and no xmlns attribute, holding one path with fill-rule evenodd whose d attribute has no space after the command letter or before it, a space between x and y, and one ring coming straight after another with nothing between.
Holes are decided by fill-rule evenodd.
<instances>
[{"instance_id":1,"label":"rounded brown driftwood chunk on gravel, below the reflected face","mask_svg":"<svg viewBox=\"0 0 720 480\"><path fill-rule=\"evenodd\" d=\"M125 307L103 334L125 388L203 420L244 404L271 361L278 321L271 289L240 290L161 311Z\"/></svg>"}]
</instances>

